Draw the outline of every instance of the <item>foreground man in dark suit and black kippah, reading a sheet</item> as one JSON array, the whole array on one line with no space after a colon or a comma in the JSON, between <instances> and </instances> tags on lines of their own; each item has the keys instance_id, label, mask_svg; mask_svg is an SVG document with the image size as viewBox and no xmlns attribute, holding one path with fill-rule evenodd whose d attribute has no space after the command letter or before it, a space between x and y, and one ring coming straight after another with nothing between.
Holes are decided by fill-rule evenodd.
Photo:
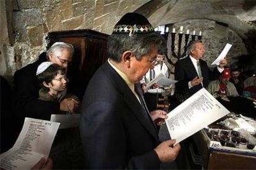
<instances>
[{"instance_id":1,"label":"foreground man in dark suit and black kippah, reading a sheet","mask_svg":"<svg viewBox=\"0 0 256 170\"><path fill-rule=\"evenodd\" d=\"M93 75L83 97L80 134L88 169L159 169L180 145L160 144L155 123L166 113L148 112L139 81L166 48L147 18L124 15L108 39L108 61Z\"/></svg>"}]
</instances>

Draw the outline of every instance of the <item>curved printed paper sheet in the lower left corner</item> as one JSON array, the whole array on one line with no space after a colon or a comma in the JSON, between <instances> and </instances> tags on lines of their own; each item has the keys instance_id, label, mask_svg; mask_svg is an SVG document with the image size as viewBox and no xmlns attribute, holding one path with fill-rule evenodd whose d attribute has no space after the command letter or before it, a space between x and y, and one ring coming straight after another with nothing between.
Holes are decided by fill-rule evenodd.
<instances>
[{"instance_id":1,"label":"curved printed paper sheet in the lower left corner","mask_svg":"<svg viewBox=\"0 0 256 170\"><path fill-rule=\"evenodd\" d=\"M1 168L31 169L44 157L48 158L59 123L25 118L14 147L1 154Z\"/></svg>"}]
</instances>

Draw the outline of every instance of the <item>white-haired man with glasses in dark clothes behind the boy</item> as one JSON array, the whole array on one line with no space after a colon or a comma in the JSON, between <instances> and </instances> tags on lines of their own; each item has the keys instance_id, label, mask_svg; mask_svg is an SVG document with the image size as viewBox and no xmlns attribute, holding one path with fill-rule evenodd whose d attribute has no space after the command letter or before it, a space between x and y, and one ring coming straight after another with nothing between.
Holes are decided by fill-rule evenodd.
<instances>
[{"instance_id":1,"label":"white-haired man with glasses in dark clothes behind the boy","mask_svg":"<svg viewBox=\"0 0 256 170\"><path fill-rule=\"evenodd\" d=\"M59 110L69 111L66 105L69 105L69 109L72 111L78 108L79 103L72 100L64 99L62 102L38 100L40 86L36 79L38 66L47 60L67 70L67 66L72 60L73 52L74 47L71 44L55 42L48 49L46 57L41 55L36 62L15 72L15 115L19 120L20 126L23 124L25 117L49 120L51 115L58 113Z\"/></svg>"}]
</instances>

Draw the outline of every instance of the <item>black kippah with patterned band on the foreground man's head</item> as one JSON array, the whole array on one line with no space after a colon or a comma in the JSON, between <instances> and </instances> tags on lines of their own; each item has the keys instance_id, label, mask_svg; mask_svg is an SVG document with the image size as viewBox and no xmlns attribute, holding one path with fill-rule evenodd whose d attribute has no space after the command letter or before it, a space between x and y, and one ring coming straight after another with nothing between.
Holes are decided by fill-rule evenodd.
<instances>
[{"instance_id":1,"label":"black kippah with patterned band on the foreground man's head","mask_svg":"<svg viewBox=\"0 0 256 170\"><path fill-rule=\"evenodd\" d=\"M127 13L116 23L113 34L118 33L152 33L153 26L147 18L137 13Z\"/></svg>"}]
</instances>

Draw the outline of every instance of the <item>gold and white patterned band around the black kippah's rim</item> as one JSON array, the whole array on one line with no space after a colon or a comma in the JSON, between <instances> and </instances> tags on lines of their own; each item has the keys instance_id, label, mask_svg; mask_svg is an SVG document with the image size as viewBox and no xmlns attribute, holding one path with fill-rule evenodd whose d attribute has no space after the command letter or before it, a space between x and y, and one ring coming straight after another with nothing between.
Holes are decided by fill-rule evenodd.
<instances>
[{"instance_id":1,"label":"gold and white patterned band around the black kippah's rim","mask_svg":"<svg viewBox=\"0 0 256 170\"><path fill-rule=\"evenodd\" d=\"M151 33L154 31L153 26L150 24L146 25L115 25L113 34L117 33Z\"/></svg>"}]
</instances>

